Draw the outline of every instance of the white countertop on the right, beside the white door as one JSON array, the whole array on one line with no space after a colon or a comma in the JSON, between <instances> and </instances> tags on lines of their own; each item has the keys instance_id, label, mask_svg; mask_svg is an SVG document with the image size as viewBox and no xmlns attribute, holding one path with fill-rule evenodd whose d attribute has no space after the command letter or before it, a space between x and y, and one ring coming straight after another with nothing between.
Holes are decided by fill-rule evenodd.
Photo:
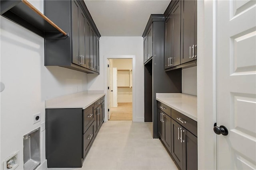
<instances>
[{"instance_id":1,"label":"white countertop on the right, beside the white door","mask_svg":"<svg viewBox=\"0 0 256 170\"><path fill-rule=\"evenodd\" d=\"M182 93L157 93L156 100L197 121L197 96Z\"/></svg>"}]
</instances>

